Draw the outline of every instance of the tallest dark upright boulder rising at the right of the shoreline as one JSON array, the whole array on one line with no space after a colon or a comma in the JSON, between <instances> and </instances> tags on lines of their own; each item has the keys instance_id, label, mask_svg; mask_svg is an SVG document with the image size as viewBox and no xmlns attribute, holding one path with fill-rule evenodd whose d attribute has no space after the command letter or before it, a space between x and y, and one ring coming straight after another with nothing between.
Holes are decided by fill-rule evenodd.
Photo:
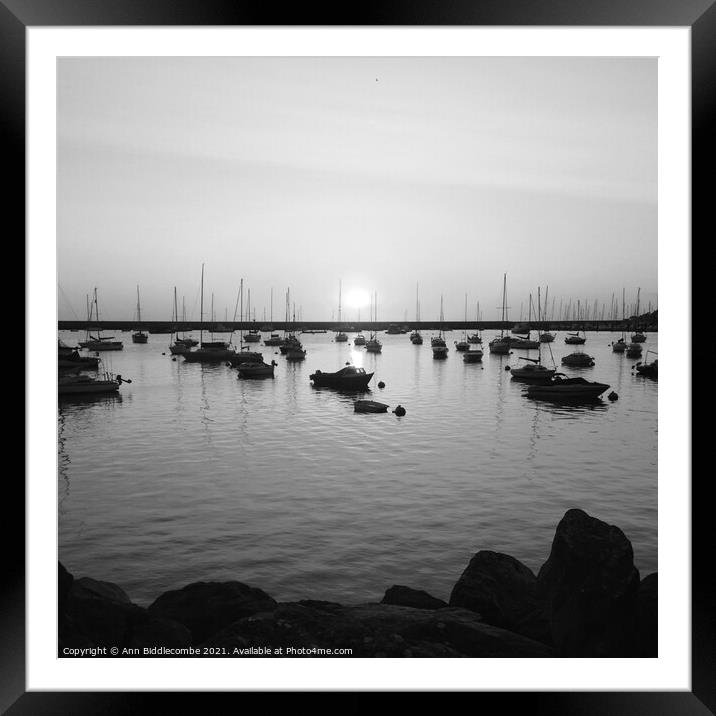
<instances>
[{"instance_id":1,"label":"tallest dark upright boulder rising at the right of the shoreline","mask_svg":"<svg viewBox=\"0 0 716 716\"><path fill-rule=\"evenodd\" d=\"M638 588L624 533L582 510L568 510L537 576L557 653L635 656Z\"/></svg>"}]
</instances>

